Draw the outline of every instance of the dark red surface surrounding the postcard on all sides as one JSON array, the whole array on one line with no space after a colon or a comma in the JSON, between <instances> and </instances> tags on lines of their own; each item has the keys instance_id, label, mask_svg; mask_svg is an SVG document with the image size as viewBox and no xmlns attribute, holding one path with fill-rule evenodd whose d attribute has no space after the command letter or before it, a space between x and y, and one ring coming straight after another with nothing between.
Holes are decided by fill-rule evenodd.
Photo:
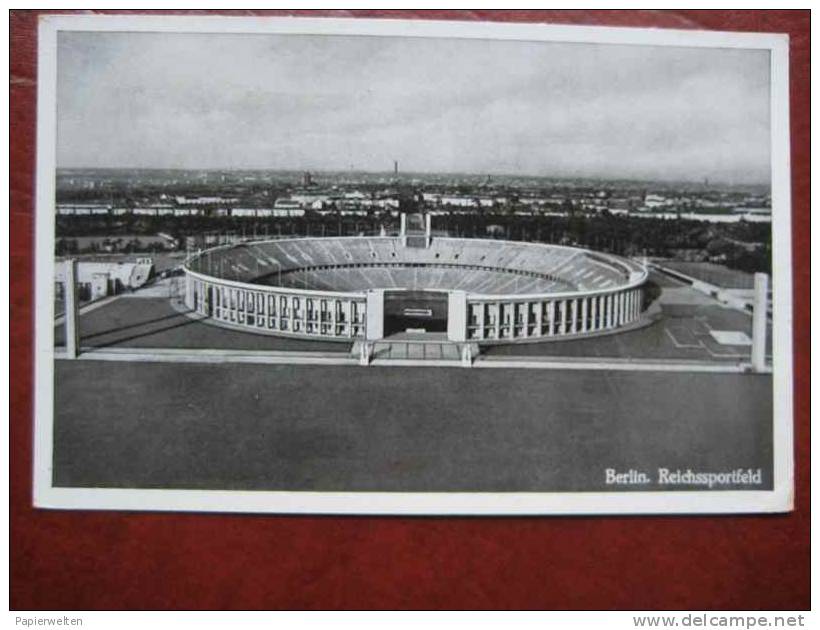
<instances>
[{"instance_id":1,"label":"dark red surface surrounding the postcard on all sides","mask_svg":"<svg viewBox=\"0 0 820 630\"><path fill-rule=\"evenodd\" d=\"M797 510L732 517L330 518L32 509L37 14L14 11L12 608L809 608L809 12L290 13L789 33Z\"/></svg>"}]
</instances>

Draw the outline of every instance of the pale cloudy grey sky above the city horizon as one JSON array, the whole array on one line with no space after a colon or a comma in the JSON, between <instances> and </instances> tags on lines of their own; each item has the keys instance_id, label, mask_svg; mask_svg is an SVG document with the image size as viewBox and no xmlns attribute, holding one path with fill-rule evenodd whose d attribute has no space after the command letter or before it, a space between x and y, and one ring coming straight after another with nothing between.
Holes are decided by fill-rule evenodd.
<instances>
[{"instance_id":1,"label":"pale cloudy grey sky above the city horizon","mask_svg":"<svg viewBox=\"0 0 820 630\"><path fill-rule=\"evenodd\" d=\"M767 51L62 32L60 167L769 182Z\"/></svg>"}]
</instances>

